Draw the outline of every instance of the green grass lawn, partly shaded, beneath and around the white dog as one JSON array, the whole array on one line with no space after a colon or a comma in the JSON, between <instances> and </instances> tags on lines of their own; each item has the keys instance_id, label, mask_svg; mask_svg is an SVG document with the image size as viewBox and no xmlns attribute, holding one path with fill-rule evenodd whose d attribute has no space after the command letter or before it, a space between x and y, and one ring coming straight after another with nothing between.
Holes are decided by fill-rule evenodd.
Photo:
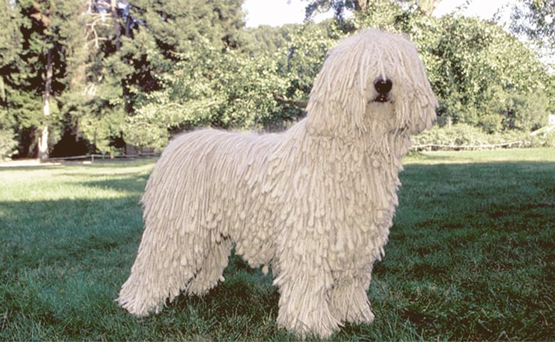
<instances>
[{"instance_id":1,"label":"green grass lawn, partly shaded, beneath and around the white dog","mask_svg":"<svg viewBox=\"0 0 555 342\"><path fill-rule=\"evenodd\" d=\"M0 167L0 339L258 340L277 329L270 276L232 257L208 295L134 318L115 303L142 234L154 160ZM406 157L376 321L337 341L555 340L555 150Z\"/></svg>"}]
</instances>

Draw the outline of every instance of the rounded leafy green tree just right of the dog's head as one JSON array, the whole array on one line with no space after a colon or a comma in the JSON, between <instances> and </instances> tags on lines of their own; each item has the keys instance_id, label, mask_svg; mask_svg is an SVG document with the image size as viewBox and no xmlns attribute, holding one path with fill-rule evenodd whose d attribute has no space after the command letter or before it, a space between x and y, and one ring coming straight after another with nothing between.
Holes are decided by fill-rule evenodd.
<instances>
[{"instance_id":1,"label":"rounded leafy green tree just right of the dog's head","mask_svg":"<svg viewBox=\"0 0 555 342\"><path fill-rule=\"evenodd\" d=\"M430 78L440 115L490 133L541 126L549 73L534 52L489 21L444 16L439 24Z\"/></svg>"}]
</instances>

